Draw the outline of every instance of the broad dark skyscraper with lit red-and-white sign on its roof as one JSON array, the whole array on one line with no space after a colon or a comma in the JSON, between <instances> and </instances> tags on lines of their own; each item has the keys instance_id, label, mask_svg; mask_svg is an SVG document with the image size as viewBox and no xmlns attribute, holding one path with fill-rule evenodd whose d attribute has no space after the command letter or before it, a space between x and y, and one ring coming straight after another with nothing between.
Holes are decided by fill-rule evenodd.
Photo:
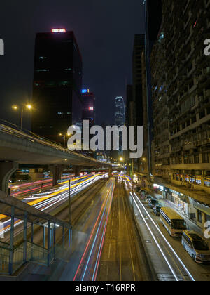
<instances>
[{"instance_id":1,"label":"broad dark skyscraper with lit red-and-white sign on its roof","mask_svg":"<svg viewBox=\"0 0 210 295\"><path fill-rule=\"evenodd\" d=\"M32 131L59 141L58 133L82 119L82 58L73 32L36 34Z\"/></svg>"}]
</instances>

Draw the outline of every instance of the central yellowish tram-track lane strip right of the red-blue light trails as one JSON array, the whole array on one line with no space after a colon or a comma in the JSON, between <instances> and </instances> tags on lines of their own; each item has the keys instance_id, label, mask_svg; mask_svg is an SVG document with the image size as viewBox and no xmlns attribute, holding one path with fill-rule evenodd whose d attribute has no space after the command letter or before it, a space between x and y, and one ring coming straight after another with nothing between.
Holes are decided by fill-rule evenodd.
<instances>
[{"instance_id":1,"label":"central yellowish tram-track lane strip right of the red-blue light trails","mask_svg":"<svg viewBox=\"0 0 210 295\"><path fill-rule=\"evenodd\" d=\"M122 182L116 181L98 281L153 280Z\"/></svg>"}]
</instances>

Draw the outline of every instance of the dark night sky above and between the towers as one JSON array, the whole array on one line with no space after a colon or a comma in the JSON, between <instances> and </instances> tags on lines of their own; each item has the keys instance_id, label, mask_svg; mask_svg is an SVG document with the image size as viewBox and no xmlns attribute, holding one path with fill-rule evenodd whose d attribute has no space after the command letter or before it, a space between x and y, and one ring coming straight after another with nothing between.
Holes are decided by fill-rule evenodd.
<instances>
[{"instance_id":1,"label":"dark night sky above and between the towers","mask_svg":"<svg viewBox=\"0 0 210 295\"><path fill-rule=\"evenodd\" d=\"M31 99L36 32L73 30L83 56L83 86L97 98L97 123L113 124L113 101L132 82L134 34L144 33L141 0L8 0L1 2L0 118L19 123L10 109ZM25 117L25 127L28 120Z\"/></svg>"}]
</instances>

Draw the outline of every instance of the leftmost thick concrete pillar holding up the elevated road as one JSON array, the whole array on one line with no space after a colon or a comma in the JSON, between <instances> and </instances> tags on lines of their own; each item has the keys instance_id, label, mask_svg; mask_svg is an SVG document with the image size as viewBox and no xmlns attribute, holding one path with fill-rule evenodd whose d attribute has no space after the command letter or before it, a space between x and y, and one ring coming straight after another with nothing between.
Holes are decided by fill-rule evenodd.
<instances>
[{"instance_id":1,"label":"leftmost thick concrete pillar holding up the elevated road","mask_svg":"<svg viewBox=\"0 0 210 295\"><path fill-rule=\"evenodd\" d=\"M19 164L15 162L0 162L0 190L8 195L8 181L18 170Z\"/></svg>"}]
</instances>

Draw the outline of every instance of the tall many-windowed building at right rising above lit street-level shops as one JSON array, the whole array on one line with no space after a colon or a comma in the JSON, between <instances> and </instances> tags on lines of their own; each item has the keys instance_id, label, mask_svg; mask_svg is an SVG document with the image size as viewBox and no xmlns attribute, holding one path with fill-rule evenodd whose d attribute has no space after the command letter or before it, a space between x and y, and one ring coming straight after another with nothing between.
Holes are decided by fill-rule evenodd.
<instances>
[{"instance_id":1,"label":"tall many-windowed building at right rising above lit street-level shops","mask_svg":"<svg viewBox=\"0 0 210 295\"><path fill-rule=\"evenodd\" d=\"M155 187L204 228L210 220L210 1L162 1L151 55Z\"/></svg>"}]
</instances>

